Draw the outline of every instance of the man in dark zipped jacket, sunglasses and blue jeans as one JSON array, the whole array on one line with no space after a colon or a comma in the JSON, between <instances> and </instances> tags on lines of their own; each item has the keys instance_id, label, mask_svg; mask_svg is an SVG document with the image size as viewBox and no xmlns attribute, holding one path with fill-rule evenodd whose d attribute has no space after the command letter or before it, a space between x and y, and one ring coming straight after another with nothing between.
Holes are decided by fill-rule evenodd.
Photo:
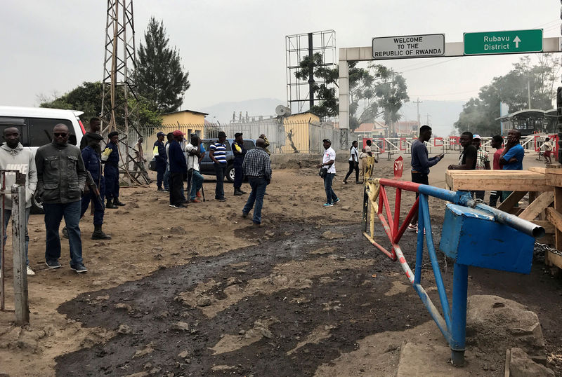
<instances>
[{"instance_id":1,"label":"man in dark zipped jacket, sunglasses and blue jeans","mask_svg":"<svg viewBox=\"0 0 562 377\"><path fill-rule=\"evenodd\" d=\"M86 168L80 149L68 144L67 125L53 128L53 142L41 146L35 155L37 165L37 196L45 210L46 247L48 268L60 268L60 237L58 228L65 217L70 246L70 268L77 273L87 271L82 262L80 234L81 196L86 184Z\"/></svg>"}]
</instances>

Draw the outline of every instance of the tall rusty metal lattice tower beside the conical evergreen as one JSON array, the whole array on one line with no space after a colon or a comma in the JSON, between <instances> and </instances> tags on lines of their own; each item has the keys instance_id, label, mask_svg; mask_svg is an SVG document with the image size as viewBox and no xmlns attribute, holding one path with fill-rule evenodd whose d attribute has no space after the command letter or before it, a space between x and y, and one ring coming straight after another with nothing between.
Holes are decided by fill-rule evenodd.
<instances>
[{"instance_id":1,"label":"tall rusty metal lattice tower beside the conical evergreen","mask_svg":"<svg viewBox=\"0 0 562 377\"><path fill-rule=\"evenodd\" d=\"M136 98L136 85L131 71L136 68L135 27L133 21L133 0L107 0L105 23L105 55L103 59L103 97L101 116L103 134L118 130L124 133L119 142L124 146L120 153L125 174L131 181L129 164L134 161L128 143L129 129L138 134L132 119L136 118L136 107L129 106L129 97ZM140 135L140 134L138 134ZM148 182L147 182L148 183Z\"/></svg>"}]
</instances>

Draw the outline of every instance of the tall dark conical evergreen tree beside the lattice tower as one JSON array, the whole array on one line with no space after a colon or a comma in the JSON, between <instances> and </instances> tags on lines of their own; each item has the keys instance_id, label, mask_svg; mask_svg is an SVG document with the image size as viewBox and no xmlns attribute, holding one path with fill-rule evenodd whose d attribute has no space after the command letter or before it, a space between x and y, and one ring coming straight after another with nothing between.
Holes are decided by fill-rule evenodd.
<instances>
[{"instance_id":1,"label":"tall dark conical evergreen tree beside the lattice tower","mask_svg":"<svg viewBox=\"0 0 562 377\"><path fill-rule=\"evenodd\" d=\"M178 50L168 47L168 43L164 22L150 18L145 44L141 43L138 48L134 72L138 94L154 104L152 110L161 114L178 110L183 103L183 93L191 85Z\"/></svg>"}]
</instances>

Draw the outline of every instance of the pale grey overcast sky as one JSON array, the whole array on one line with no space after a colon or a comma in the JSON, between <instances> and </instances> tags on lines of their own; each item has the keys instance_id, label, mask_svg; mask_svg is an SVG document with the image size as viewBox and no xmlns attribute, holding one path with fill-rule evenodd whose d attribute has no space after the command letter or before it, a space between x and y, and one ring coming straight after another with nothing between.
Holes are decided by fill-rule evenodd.
<instances>
[{"instance_id":1,"label":"pale grey overcast sky","mask_svg":"<svg viewBox=\"0 0 562 377\"><path fill-rule=\"evenodd\" d=\"M0 13L0 104L37 106L103 71L104 0L4 0ZM286 99L285 36L336 31L338 48L374 36L543 28L559 36L557 0L134 0L136 43L150 16L164 20L191 88L183 109L269 97ZM467 100L520 55L387 60L412 100ZM257 114L256 114L257 115ZM211 114L212 116L212 114Z\"/></svg>"}]
</instances>

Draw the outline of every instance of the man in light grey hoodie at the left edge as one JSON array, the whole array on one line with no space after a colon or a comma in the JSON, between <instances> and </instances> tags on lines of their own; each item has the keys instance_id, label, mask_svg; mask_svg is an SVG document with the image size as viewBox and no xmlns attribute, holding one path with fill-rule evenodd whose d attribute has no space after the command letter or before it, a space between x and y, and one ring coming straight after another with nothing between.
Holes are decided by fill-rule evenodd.
<instances>
[{"instance_id":1,"label":"man in light grey hoodie at the left edge","mask_svg":"<svg viewBox=\"0 0 562 377\"><path fill-rule=\"evenodd\" d=\"M33 152L29 148L24 148L20 143L20 130L16 127L4 129L4 140L6 142L0 146L0 169L19 170L25 174L25 260L27 263L27 276L35 273L30 268L30 259L27 258L27 249L30 245L30 236L27 234L27 221L30 219L31 200L37 187L37 169ZM6 188L15 184L15 173L6 173ZM6 194L4 212L4 245L6 245L6 229L10 224L12 215L12 196Z\"/></svg>"}]
</instances>

